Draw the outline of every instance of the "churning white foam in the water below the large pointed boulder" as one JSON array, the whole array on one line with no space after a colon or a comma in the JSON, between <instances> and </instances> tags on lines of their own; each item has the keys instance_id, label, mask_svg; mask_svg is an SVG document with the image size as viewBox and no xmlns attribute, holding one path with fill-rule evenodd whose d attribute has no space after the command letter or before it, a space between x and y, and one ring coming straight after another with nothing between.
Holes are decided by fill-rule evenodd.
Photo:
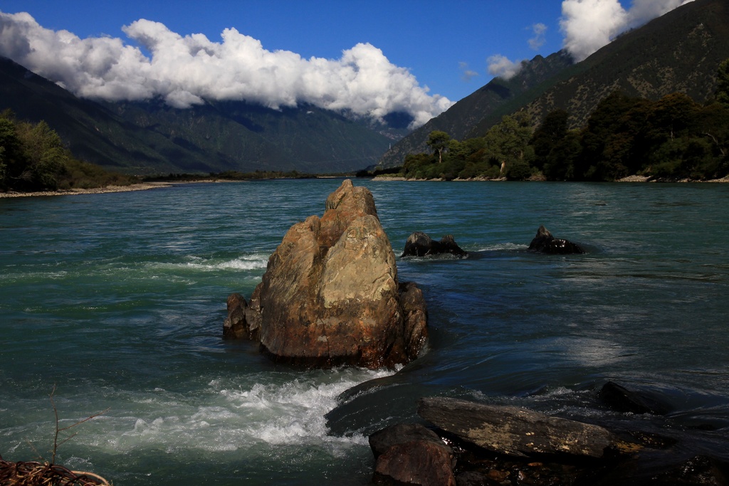
<instances>
[{"instance_id":1,"label":"churning white foam in the water below the large pointed boulder","mask_svg":"<svg viewBox=\"0 0 729 486\"><path fill-rule=\"evenodd\" d=\"M343 391L392 373L343 368L302 372L282 383L271 383L270 376L260 374L256 377L260 383L246 377L251 383L247 386L236 385L233 377L215 378L205 389L191 393L159 388L121 392L112 411L88 423L79 440L114 453L312 446L338 456L349 447L366 446L367 437L330 436L324 416L338 406ZM114 415L119 407L127 408L117 412L123 416Z\"/></svg>"}]
</instances>

